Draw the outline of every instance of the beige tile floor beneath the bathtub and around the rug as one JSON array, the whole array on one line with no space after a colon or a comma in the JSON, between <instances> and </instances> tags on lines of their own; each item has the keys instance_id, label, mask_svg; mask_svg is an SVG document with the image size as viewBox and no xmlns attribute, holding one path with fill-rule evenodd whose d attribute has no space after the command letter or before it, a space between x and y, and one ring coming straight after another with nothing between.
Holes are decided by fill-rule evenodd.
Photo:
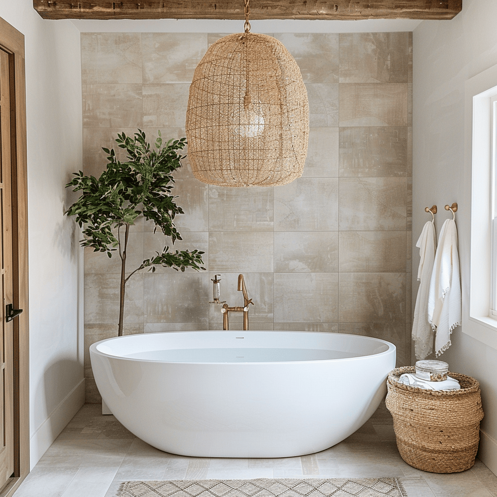
<instances>
[{"instance_id":1,"label":"beige tile floor beneath the bathtub and around the rug","mask_svg":"<svg viewBox=\"0 0 497 497\"><path fill-rule=\"evenodd\" d=\"M157 450L101 406L85 404L15 493L15 497L114 497L125 480L364 478L402 479L409 497L497 497L497 477L480 461L468 471L419 471L400 457L392 417L382 404L343 442L301 457L225 459Z\"/></svg>"}]
</instances>

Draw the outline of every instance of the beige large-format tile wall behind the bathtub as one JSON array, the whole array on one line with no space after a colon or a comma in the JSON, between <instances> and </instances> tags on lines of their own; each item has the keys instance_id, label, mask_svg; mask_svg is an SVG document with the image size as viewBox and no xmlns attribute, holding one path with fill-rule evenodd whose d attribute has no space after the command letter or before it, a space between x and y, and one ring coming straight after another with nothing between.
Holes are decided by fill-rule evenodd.
<instances>
[{"instance_id":1,"label":"beige large-format tile wall behind the bathtub","mask_svg":"<svg viewBox=\"0 0 497 497\"><path fill-rule=\"evenodd\" d=\"M143 129L184 136L189 83L222 34L83 33L83 169L106 166L101 147ZM394 342L411 362L412 33L276 34L307 86L310 138L304 174L270 188L224 188L176 174L177 248L205 251L206 271L135 274L125 332L222 329L221 298L241 305L244 273L252 330L365 334ZM119 149L120 150L120 149ZM140 221L129 270L170 245ZM119 257L84 258L87 401L98 401L88 346L117 333ZM242 316L230 315L241 328Z\"/></svg>"}]
</instances>

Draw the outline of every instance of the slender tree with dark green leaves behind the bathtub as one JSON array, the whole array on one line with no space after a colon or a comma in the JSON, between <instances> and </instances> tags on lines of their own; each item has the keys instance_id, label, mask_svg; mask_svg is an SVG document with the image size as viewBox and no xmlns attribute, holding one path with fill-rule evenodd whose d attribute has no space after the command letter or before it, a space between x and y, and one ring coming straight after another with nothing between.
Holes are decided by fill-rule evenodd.
<instances>
[{"instance_id":1,"label":"slender tree with dark green leaves behind the bathtub","mask_svg":"<svg viewBox=\"0 0 497 497\"><path fill-rule=\"evenodd\" d=\"M145 133L138 130L134 138L121 133L115 141L120 148L126 149L127 162L120 162L114 149L103 148L108 155L108 164L100 177L86 176L79 171L66 185L81 192L81 196L65 214L76 216L76 222L83 228L83 247L106 252L109 257L118 251L121 258L118 336L121 336L125 286L133 274L145 268L155 272L156 265L172 267L176 271L184 271L186 267L198 271L205 267L202 267L204 252L172 250L166 246L162 253L155 252L131 272L128 269L126 276L129 229L138 216L153 221L154 233L159 228L170 238L171 245L182 240L174 226L174 218L184 212L176 204L178 197L171 192L174 187L172 173L181 167L181 159L185 156L179 152L184 149L186 138L165 143L159 131L159 137L151 146Z\"/></svg>"}]
</instances>

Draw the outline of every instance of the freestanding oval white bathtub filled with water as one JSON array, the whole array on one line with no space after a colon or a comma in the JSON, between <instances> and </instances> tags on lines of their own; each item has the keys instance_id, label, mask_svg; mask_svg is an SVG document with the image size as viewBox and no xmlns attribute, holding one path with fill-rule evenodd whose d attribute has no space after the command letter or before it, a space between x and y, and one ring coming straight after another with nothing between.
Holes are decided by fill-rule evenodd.
<instances>
[{"instance_id":1,"label":"freestanding oval white bathtub filled with water","mask_svg":"<svg viewBox=\"0 0 497 497\"><path fill-rule=\"evenodd\" d=\"M182 331L90 346L103 400L158 449L201 457L322 451L379 406L395 346L296 331Z\"/></svg>"}]
</instances>

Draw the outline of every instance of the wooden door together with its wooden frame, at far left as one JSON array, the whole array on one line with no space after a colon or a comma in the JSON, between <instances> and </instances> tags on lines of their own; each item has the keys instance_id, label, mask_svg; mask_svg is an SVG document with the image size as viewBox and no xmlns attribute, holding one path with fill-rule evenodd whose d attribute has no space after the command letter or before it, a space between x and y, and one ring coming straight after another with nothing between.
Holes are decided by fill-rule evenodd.
<instances>
[{"instance_id":1,"label":"wooden door together with its wooden frame, at far left","mask_svg":"<svg viewBox=\"0 0 497 497\"><path fill-rule=\"evenodd\" d=\"M29 473L26 77L24 35L1 17L0 133L0 496L11 497ZM7 323L6 304L24 312Z\"/></svg>"}]
</instances>

